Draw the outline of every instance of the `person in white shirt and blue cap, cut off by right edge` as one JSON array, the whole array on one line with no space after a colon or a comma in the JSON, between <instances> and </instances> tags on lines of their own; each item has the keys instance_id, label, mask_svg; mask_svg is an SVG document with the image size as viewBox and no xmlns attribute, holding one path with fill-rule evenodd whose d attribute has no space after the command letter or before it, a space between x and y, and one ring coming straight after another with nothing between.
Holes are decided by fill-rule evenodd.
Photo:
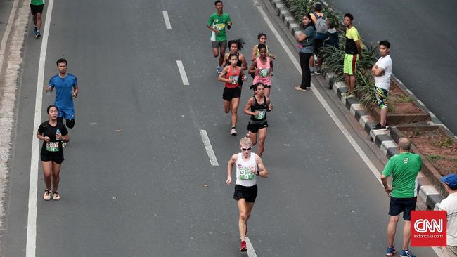
<instances>
[{"instance_id":1,"label":"person in white shirt and blue cap, cut off by right edge","mask_svg":"<svg viewBox=\"0 0 457 257\"><path fill-rule=\"evenodd\" d=\"M457 174L449 174L441 178L448 197L443 199L435 209L447 212L446 247L443 247L441 257L457 256Z\"/></svg>"}]
</instances>

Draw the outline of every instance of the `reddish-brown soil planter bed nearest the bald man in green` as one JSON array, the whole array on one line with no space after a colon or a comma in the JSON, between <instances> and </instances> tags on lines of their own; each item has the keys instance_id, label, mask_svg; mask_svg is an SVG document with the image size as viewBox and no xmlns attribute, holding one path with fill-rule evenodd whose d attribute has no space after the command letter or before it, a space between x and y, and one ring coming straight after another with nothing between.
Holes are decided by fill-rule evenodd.
<instances>
[{"instance_id":1,"label":"reddish-brown soil planter bed nearest the bald man in green","mask_svg":"<svg viewBox=\"0 0 457 257\"><path fill-rule=\"evenodd\" d=\"M457 140L443 126L410 124L390 127L390 136L397 142L406 137L411 140L411 150L420 154L422 172L439 193L446 197L446 190L439 180L457 172Z\"/></svg>"}]
</instances>

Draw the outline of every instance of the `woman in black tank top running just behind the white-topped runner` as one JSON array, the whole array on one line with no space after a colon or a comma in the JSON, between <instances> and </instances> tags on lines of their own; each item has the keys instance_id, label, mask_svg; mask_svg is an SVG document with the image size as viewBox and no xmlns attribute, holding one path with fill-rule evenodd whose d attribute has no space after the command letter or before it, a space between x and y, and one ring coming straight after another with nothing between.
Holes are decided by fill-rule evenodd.
<instances>
[{"instance_id":1,"label":"woman in black tank top running just behind the white-topped runner","mask_svg":"<svg viewBox=\"0 0 457 257\"><path fill-rule=\"evenodd\" d=\"M257 155L262 157L265 149L266 129L268 123L266 122L266 112L273 110L273 105L270 103L270 98L264 95L265 86L261 82L252 85L251 88L255 94L249 98L245 105L244 112L251 115L251 119L247 124L247 137L252 141L252 145L257 143L257 133L259 134L259 149Z\"/></svg>"}]
</instances>

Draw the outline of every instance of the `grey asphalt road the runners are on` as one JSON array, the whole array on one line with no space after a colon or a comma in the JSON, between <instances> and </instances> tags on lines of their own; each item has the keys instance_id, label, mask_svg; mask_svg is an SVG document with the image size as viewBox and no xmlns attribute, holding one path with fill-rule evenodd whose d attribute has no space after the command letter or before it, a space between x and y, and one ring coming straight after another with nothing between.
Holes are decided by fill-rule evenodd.
<instances>
[{"instance_id":1,"label":"grey asphalt road the runners are on","mask_svg":"<svg viewBox=\"0 0 457 257\"><path fill-rule=\"evenodd\" d=\"M165 29L162 10L172 29ZM257 34L266 32L277 56L275 110L262 157L271 176L259 181L249 221L257 256L384 254L388 198L378 180L315 95L293 90L301 76L253 2L231 1L225 10L233 19L229 37L247 41L243 53L249 55ZM202 0L54 2L45 83L56 74L55 61L65 57L80 94L59 202L42 200L39 170L36 256L246 256L238 252L233 186L224 181L249 117L240 111L239 136L229 135L205 28L212 12L212 2ZM31 33L18 100L6 256L25 256L41 46ZM182 84L176 60L183 62L189 86ZM52 98L44 95L43 107ZM211 166L200 129L219 166Z\"/></svg>"}]
</instances>

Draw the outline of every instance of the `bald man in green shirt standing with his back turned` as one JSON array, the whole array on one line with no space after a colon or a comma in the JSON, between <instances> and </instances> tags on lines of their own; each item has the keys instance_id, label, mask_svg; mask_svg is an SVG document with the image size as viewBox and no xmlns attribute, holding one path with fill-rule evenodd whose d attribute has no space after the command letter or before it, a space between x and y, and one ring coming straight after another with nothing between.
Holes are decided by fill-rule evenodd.
<instances>
[{"instance_id":1,"label":"bald man in green shirt standing with his back turned","mask_svg":"<svg viewBox=\"0 0 457 257\"><path fill-rule=\"evenodd\" d=\"M381 174L382 185L384 185L387 195L390 196L386 256L394 256L397 253L394 248L394 237L401 212L403 212L405 224L403 228L403 249L400 256L415 256L409 250L411 211L416 210L417 176L422 169L422 160L418 154L409 152L410 146L411 142L408 138L400 138L398 141L399 154L389 159ZM387 178L391 175L392 185L389 185Z\"/></svg>"}]
</instances>

